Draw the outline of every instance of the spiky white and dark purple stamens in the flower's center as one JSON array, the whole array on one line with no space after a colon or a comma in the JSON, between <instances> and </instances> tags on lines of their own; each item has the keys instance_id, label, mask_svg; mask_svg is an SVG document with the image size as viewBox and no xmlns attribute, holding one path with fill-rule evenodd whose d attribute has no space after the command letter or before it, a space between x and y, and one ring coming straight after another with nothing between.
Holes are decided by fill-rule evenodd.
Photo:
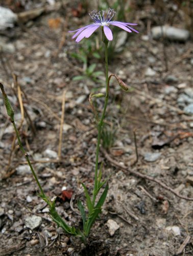
<instances>
[{"instance_id":1,"label":"spiky white and dark purple stamens in the flower's center","mask_svg":"<svg viewBox=\"0 0 193 256\"><path fill-rule=\"evenodd\" d=\"M91 19L93 19L95 23L100 23L102 26L108 26L109 25L108 23L110 22L114 14L115 14L115 11L110 8L107 15L105 15L105 11L99 11L99 12L92 11L91 13L89 13Z\"/></svg>"}]
</instances>

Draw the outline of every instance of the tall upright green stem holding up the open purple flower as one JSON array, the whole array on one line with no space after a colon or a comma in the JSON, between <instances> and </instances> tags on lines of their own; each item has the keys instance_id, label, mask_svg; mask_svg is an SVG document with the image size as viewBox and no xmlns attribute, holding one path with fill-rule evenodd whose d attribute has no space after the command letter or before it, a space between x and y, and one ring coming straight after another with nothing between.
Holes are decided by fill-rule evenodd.
<instances>
[{"instance_id":1,"label":"tall upright green stem holding up the open purple flower","mask_svg":"<svg viewBox=\"0 0 193 256\"><path fill-rule=\"evenodd\" d=\"M105 44L105 68L106 68L106 95L105 95L105 104L103 113L101 116L100 121L98 122L98 140L96 145L96 160L95 160L95 175L94 175L94 190L93 190L93 199L92 205L94 206L95 199L96 199L96 192L98 190L98 165L99 165L99 150L100 150L100 142L101 142L101 131L103 126L103 121L105 118L105 113L107 109L108 99L109 99L109 86L108 86L108 40L104 34L103 30L103 42Z\"/></svg>"}]
</instances>

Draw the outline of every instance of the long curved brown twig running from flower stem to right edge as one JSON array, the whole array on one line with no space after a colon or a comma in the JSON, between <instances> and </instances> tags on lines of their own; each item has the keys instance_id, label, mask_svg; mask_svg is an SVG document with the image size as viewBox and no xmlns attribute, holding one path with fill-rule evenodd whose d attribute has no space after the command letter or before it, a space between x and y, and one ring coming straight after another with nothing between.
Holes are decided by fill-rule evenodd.
<instances>
[{"instance_id":1,"label":"long curved brown twig running from flower stem to right edge","mask_svg":"<svg viewBox=\"0 0 193 256\"><path fill-rule=\"evenodd\" d=\"M103 152L103 154L105 155L106 159L111 162L113 165L118 166L119 168L126 170L127 172L133 174L134 176L140 177L142 179L146 179L146 180L150 180L153 181L155 183L157 183L158 185L160 185L161 187L165 188L166 190L170 191L172 194L174 194L175 196L187 200L187 201L193 201L193 198L189 198L189 197L184 197L179 195L174 189L172 189L171 187L168 187L167 185L165 185L163 182L159 181L158 179L154 179L153 177L144 175L144 174L140 174L138 172L135 172L134 170L130 170L126 165L123 164L119 164L117 161L115 161L114 159L112 159L109 154L103 149L101 148L101 151Z\"/></svg>"}]
</instances>

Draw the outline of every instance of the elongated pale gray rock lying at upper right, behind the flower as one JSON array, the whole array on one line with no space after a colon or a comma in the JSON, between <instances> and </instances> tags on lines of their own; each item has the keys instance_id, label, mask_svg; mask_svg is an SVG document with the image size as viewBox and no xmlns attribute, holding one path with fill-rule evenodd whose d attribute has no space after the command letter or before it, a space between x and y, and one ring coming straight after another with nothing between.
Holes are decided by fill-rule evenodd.
<instances>
[{"instance_id":1,"label":"elongated pale gray rock lying at upper right, behind the flower","mask_svg":"<svg viewBox=\"0 0 193 256\"><path fill-rule=\"evenodd\" d=\"M189 35L189 31L185 29L178 29L167 25L152 28L152 37L154 39L159 39L163 36L170 40L185 42L188 39Z\"/></svg>"}]
</instances>

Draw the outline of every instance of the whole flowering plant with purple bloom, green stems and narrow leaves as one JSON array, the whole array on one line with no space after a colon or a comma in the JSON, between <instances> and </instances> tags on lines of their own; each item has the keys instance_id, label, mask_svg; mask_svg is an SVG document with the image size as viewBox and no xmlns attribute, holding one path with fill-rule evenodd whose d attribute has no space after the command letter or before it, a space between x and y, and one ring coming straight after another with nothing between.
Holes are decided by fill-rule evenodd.
<instances>
[{"instance_id":1,"label":"whole flowering plant with purple bloom, green stems and narrow leaves","mask_svg":"<svg viewBox=\"0 0 193 256\"><path fill-rule=\"evenodd\" d=\"M82 186L83 186L83 189L84 189L85 197L86 197L86 207L84 206L84 204L82 204L81 201L78 201L78 208L79 208L79 210L81 212L81 216L82 216L83 229L80 229L79 227L75 227L75 226L69 226L66 223L66 221L63 220L61 218L61 216L58 214L58 212L56 210L56 207L55 207L55 200L52 201L49 197L47 197L45 195L45 193L44 193L44 191L41 187L41 184L38 180L38 177L35 173L35 170L33 169L33 166L31 164L29 156L28 156L28 154L26 153L25 149L23 148L23 146L21 144L20 135L19 135L19 132L17 130L17 127L15 125L15 121L14 121L14 111L12 109L12 106L11 106L10 102L9 102L7 94L4 91L3 84L0 83L0 88L2 90L3 97L4 97L4 102L5 102L6 109L7 109L7 114L9 115L9 117L11 119L11 122L13 123L14 130L15 130L17 140L18 140L18 144L19 144L19 148L22 151L22 153L25 155L26 160L27 160L27 162L28 162L28 164L31 168L34 179L36 180L37 185L39 187L39 190L40 190L39 196L49 206L50 216L52 217L53 221L55 223L57 223L58 226L62 227L63 230L66 233L70 234L71 236L75 236L75 237L80 238L84 243L87 242L87 238L89 236L90 229L91 229L93 223L95 222L96 218L98 218L99 214L102 211L102 206L105 202L107 192L108 192L108 187L109 187L108 186L109 177L102 180L103 164L101 164L101 166L99 167L99 151L100 151L100 144L101 144L102 128L103 128L103 125L104 125L104 118L105 118L105 115L106 115L106 109L107 109L107 104L108 104L108 99L109 99L109 89L110 89L110 79L111 79L111 77L113 76L113 77L116 78L119 86L123 90L125 90L125 91L128 90L126 84L120 78L118 78L114 74L111 74L110 76L108 75L108 42L109 42L109 40L113 39L113 35L112 35L112 32L111 32L109 26L110 25L116 26L116 27L119 27L119 28L122 28L122 29L126 30L127 32L132 32L132 31L137 32L135 29L130 27L130 26L135 26L137 24L111 21L114 14L115 14L115 12L112 9L109 9L106 16L105 16L104 11L98 12L98 13L93 11L93 12L91 12L90 17L94 21L94 24L85 26L85 27L80 28L80 29L75 30L75 31L69 31L69 32L76 32L75 35L73 36L73 38L77 37L76 42L79 42L84 37L88 38L89 36L91 36L91 34L96 29L101 27L102 28L102 38L103 38L103 42L104 42L104 46L105 46L106 94L104 95L102 93L98 93L98 94L91 93L90 97L89 97L91 108L93 110L95 120L96 120L96 124L97 124L97 127L98 127L98 140L97 140L97 145L96 145L94 187L93 187L93 191L92 191L92 196L89 195L85 184L81 183ZM95 70L95 66L92 65L92 66L88 67L88 74L90 74L90 75L93 74L94 70ZM93 105L94 98L99 98L99 97L100 98L101 97L105 98L104 108L103 108L101 116L99 116L98 111L95 109L95 107ZM104 189L103 189L103 186L105 186ZM103 189L103 191L101 193L102 189Z\"/></svg>"}]
</instances>

